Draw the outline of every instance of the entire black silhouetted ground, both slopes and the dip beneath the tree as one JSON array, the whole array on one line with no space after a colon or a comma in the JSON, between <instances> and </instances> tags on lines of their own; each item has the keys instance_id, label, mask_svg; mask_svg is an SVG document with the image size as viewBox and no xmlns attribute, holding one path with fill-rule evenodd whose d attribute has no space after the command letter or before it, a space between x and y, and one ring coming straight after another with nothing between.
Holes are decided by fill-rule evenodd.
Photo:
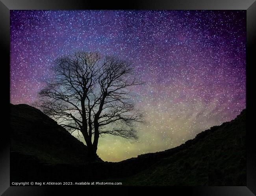
<instances>
[{"instance_id":1,"label":"entire black silhouetted ground, both slopes and the dip beneath the tree","mask_svg":"<svg viewBox=\"0 0 256 196\"><path fill-rule=\"evenodd\" d=\"M11 182L122 182L122 185L246 185L245 114L186 143L118 163L87 162L87 149L29 105L10 104Z\"/></svg>"}]
</instances>

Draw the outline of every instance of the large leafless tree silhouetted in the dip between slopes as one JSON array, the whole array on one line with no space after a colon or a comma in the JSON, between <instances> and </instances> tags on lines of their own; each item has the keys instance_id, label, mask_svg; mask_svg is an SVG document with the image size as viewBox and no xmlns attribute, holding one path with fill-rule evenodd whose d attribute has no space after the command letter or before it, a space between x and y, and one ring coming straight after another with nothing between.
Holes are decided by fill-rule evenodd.
<instances>
[{"instance_id":1,"label":"large leafless tree silhouetted in the dip between slopes","mask_svg":"<svg viewBox=\"0 0 256 196\"><path fill-rule=\"evenodd\" d=\"M35 105L70 132L82 133L91 160L96 158L102 134L137 138L134 122L142 122L142 115L134 107L130 87L141 83L134 78L131 64L77 52L58 58L53 73Z\"/></svg>"}]
</instances>

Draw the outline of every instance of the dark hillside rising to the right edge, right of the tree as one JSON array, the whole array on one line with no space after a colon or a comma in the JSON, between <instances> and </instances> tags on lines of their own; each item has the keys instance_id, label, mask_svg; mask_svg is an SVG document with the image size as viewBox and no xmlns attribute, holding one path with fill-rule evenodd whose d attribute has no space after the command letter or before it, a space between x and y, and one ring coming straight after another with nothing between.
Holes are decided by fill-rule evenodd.
<instances>
[{"instance_id":1,"label":"dark hillside rising to the right edge, right of the tree","mask_svg":"<svg viewBox=\"0 0 256 196\"><path fill-rule=\"evenodd\" d=\"M243 110L231 122L211 127L176 148L140 155L132 160L152 164L116 181L124 185L245 186L245 122Z\"/></svg>"}]
</instances>

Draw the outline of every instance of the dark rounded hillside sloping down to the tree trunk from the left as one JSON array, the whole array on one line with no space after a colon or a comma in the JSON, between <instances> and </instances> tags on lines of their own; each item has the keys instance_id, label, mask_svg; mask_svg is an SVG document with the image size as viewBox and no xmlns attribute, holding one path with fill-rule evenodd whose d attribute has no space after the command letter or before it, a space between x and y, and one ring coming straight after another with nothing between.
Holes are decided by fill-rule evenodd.
<instances>
[{"instance_id":1,"label":"dark rounded hillside sloping down to the tree trunk from the left","mask_svg":"<svg viewBox=\"0 0 256 196\"><path fill-rule=\"evenodd\" d=\"M32 171L38 165L87 161L86 146L34 107L10 103L10 128L11 172L15 176Z\"/></svg>"}]
</instances>

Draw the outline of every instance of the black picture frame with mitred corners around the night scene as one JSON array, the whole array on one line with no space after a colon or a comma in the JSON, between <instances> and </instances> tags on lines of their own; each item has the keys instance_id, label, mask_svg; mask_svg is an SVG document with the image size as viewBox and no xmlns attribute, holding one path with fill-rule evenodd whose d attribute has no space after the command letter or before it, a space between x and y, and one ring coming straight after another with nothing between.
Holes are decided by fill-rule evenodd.
<instances>
[{"instance_id":1,"label":"black picture frame with mitred corners around the night scene","mask_svg":"<svg viewBox=\"0 0 256 196\"><path fill-rule=\"evenodd\" d=\"M4 56L5 63L2 67L8 67L9 64L9 11L17 9L26 10L68 10L68 9L164 9L164 10L246 10L247 11L247 97L246 97L246 108L247 108L247 186L245 187L168 187L168 192L178 191L179 194L189 195L232 195L232 196L246 196L256 194L256 148L255 148L255 137L254 129L251 128L253 122L252 112L254 110L253 103L254 97L252 96L252 88L254 85L250 83L250 79L253 78L255 63L255 40L256 40L256 1L255 0L130 0L128 2L97 2L92 0L1 0L0 2L0 21L1 31L0 39L2 45L2 54ZM8 68L7 68L8 69ZM9 71L9 69L8 69ZM8 74L2 74L1 77L4 80L7 79ZM6 91L8 89L8 83L4 82ZM8 90L9 91L9 90ZM6 92L7 94L7 92ZM8 101L9 97L7 97ZM8 103L7 103L8 105ZM3 131L3 130L2 130ZM74 191L83 191L88 187L68 187L68 186L55 186L55 187L37 187L37 186L26 186L26 187L10 187L10 175L9 175L9 132L8 129L3 131L4 134L1 136L1 149L0 149L0 194L3 195L49 195L55 193L58 195L61 192L68 193L71 188L72 194ZM103 189L103 187L95 187L96 189ZM107 189L109 187L106 187ZM127 189L131 191L132 189ZM159 187L161 188L161 187ZM112 188L113 189L113 188ZM119 192L120 187L114 187ZM151 190L152 187L147 187ZM84 192L84 191L83 191ZM128 193L128 192L126 192ZM85 192L84 192L85 194Z\"/></svg>"}]
</instances>

